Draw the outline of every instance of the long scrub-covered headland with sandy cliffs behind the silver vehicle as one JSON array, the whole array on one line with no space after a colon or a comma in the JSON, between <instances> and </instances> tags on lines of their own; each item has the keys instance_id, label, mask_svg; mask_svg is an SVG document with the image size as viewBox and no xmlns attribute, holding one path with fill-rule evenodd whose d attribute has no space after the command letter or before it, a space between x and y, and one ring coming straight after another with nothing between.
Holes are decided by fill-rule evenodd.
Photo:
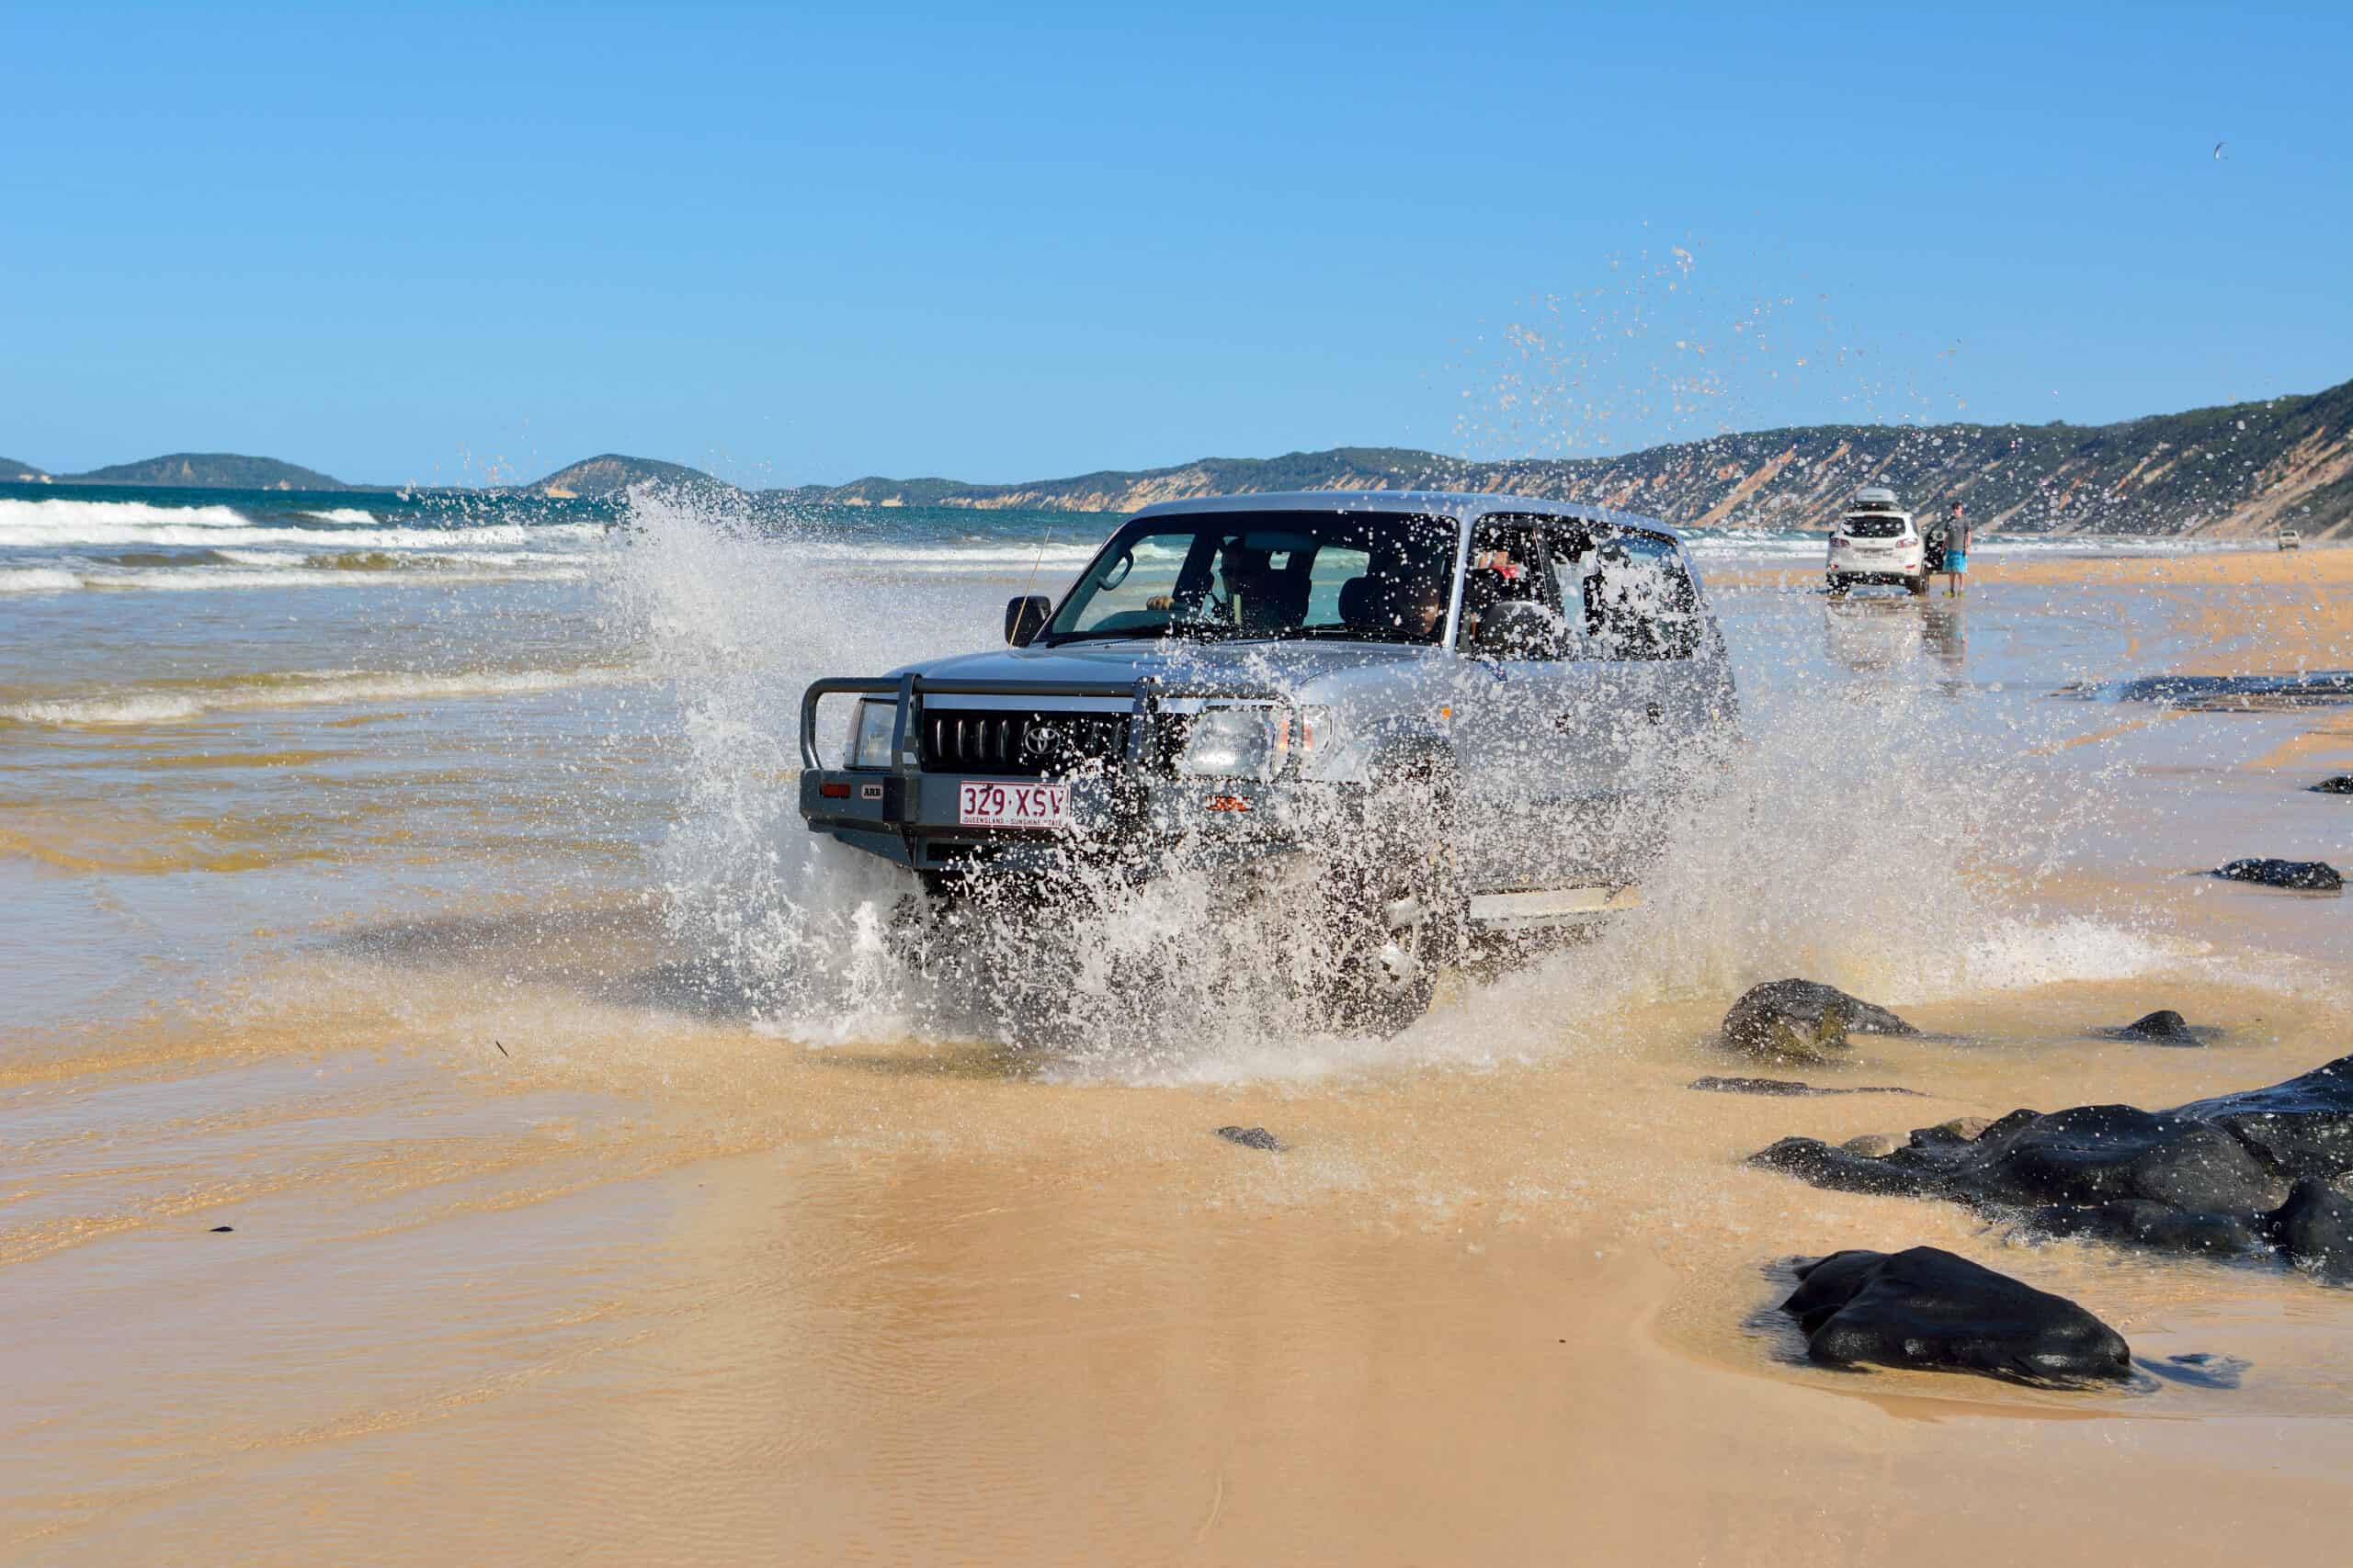
<instances>
[{"instance_id":1,"label":"long scrub-covered headland with sandy cliffs behind the silver vehicle","mask_svg":"<svg viewBox=\"0 0 2353 1568\"><path fill-rule=\"evenodd\" d=\"M1809 425L1614 458L1497 463L1339 447L1028 484L856 480L798 494L842 505L1132 512L1181 496L1280 489L1473 489L1595 501L1687 527L1824 529L1857 484L1892 484L1913 508L1962 501L1981 529L2353 534L2353 381L2115 425Z\"/></svg>"}]
</instances>

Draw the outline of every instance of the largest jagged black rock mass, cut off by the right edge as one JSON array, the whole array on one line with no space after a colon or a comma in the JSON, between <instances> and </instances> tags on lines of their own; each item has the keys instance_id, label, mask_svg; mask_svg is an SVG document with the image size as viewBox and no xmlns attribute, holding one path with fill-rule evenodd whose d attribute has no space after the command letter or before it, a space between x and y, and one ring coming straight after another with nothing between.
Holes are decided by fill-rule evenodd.
<instances>
[{"instance_id":1,"label":"largest jagged black rock mass, cut off by the right edge","mask_svg":"<svg viewBox=\"0 0 2353 1568\"><path fill-rule=\"evenodd\" d=\"M1751 1164L1817 1187L1941 1197L2031 1229L2214 1258L2278 1255L2353 1284L2353 1056L2167 1112L2017 1110L1889 1154L1784 1138Z\"/></svg>"}]
</instances>

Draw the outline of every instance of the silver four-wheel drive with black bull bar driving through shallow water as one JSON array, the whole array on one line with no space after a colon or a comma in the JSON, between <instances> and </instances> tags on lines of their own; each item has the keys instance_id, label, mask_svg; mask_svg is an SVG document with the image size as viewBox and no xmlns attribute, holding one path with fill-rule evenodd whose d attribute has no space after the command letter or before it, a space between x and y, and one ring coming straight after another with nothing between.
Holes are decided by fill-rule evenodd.
<instances>
[{"instance_id":1,"label":"silver four-wheel drive with black bull bar driving through shallow water","mask_svg":"<svg viewBox=\"0 0 2353 1568\"><path fill-rule=\"evenodd\" d=\"M1480 933L1626 907L1737 715L1671 529L1511 496L1153 505L1059 604L1007 604L1005 642L814 682L809 827L932 900L1071 865L1275 877L1329 922L1311 983L1346 1027L1417 1018ZM826 698L852 703L831 759Z\"/></svg>"}]
</instances>

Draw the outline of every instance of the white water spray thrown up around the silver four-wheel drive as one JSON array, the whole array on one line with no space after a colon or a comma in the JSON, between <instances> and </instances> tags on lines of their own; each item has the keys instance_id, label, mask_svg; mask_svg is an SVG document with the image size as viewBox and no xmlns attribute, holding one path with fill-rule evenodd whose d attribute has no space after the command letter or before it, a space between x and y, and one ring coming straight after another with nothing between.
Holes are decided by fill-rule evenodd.
<instances>
[{"instance_id":1,"label":"white water spray thrown up around the silver four-wheel drive","mask_svg":"<svg viewBox=\"0 0 2353 1568\"><path fill-rule=\"evenodd\" d=\"M2113 922L2033 917L2035 882L2104 799L2085 752L2064 776L2033 757L2073 705L1972 705L1922 637L1826 661L1826 616L1842 611L1802 595L1744 661L1746 743L1687 799L1645 802L1659 846L1642 905L1586 945L1454 987L1395 1041L1334 1037L1304 1006L1332 943L1315 900L1252 910L1186 842L1155 851L1141 886L1132 865L1059 865L946 929L911 929L911 875L800 820L800 691L986 644L993 585L861 569L831 522L751 524L649 494L631 510L612 604L685 715L661 851L671 931L786 1039L995 1039L1132 1081L1313 1074L1579 1048L1628 1009L1784 973L1904 1001L2160 954Z\"/></svg>"}]
</instances>

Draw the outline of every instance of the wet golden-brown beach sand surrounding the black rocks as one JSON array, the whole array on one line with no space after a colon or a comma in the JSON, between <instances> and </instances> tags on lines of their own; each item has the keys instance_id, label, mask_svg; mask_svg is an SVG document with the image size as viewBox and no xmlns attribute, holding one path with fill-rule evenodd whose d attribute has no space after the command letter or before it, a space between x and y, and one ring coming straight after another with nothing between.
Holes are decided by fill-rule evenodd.
<instances>
[{"instance_id":1,"label":"wet golden-brown beach sand surrounding the black rocks","mask_svg":"<svg viewBox=\"0 0 2353 1568\"><path fill-rule=\"evenodd\" d=\"M1788 889L1711 936L1711 966L1624 983L1605 940L1454 983L1379 1046L1134 1060L885 1030L812 1048L701 983L628 875L532 886L546 842L576 851L541 820L560 811L475 823L471 844L511 856L504 891L322 926L254 910L235 964L198 985L169 969L139 1011L108 976L0 1053L0 1552L2329 1561L2353 1298L2021 1246L1953 1206L1741 1159L1784 1133L2172 1105L2339 1056L2341 903L2184 872L2341 846L2353 802L2294 771L2334 755L2341 715L2005 705L1998 686L2042 665L2047 689L2341 668L2346 569L2337 550L2005 564L1941 630L1911 604L1833 621L1800 583L1711 581L1737 639L1802 654L1767 672L1788 691L1927 668L1934 701L1998 717L1988 733L2042 724L2031 778L2097 792L2064 865L2007 839L1955 860L1974 903L1953 907L2017 929L1937 973ZM188 752L169 731L78 745L193 771L148 766ZM42 811L26 795L7 825L71 844L71 865L12 872L49 893L252 875L136 870L186 842L136 823L61 839ZM412 844L398 813L353 832L336 875ZM296 849L254 827L273 875L311 875ZM1739 980L1779 973L1744 971L1795 954L1965 1044L1866 1041L1777 1074L1925 1098L1685 1088L1751 1070L1708 1037ZM2087 1032L2155 1006L2226 1037ZM2073 1295L2144 1363L2247 1371L2068 1394L1831 1373L1762 1312L1791 1255L1913 1244Z\"/></svg>"}]
</instances>

